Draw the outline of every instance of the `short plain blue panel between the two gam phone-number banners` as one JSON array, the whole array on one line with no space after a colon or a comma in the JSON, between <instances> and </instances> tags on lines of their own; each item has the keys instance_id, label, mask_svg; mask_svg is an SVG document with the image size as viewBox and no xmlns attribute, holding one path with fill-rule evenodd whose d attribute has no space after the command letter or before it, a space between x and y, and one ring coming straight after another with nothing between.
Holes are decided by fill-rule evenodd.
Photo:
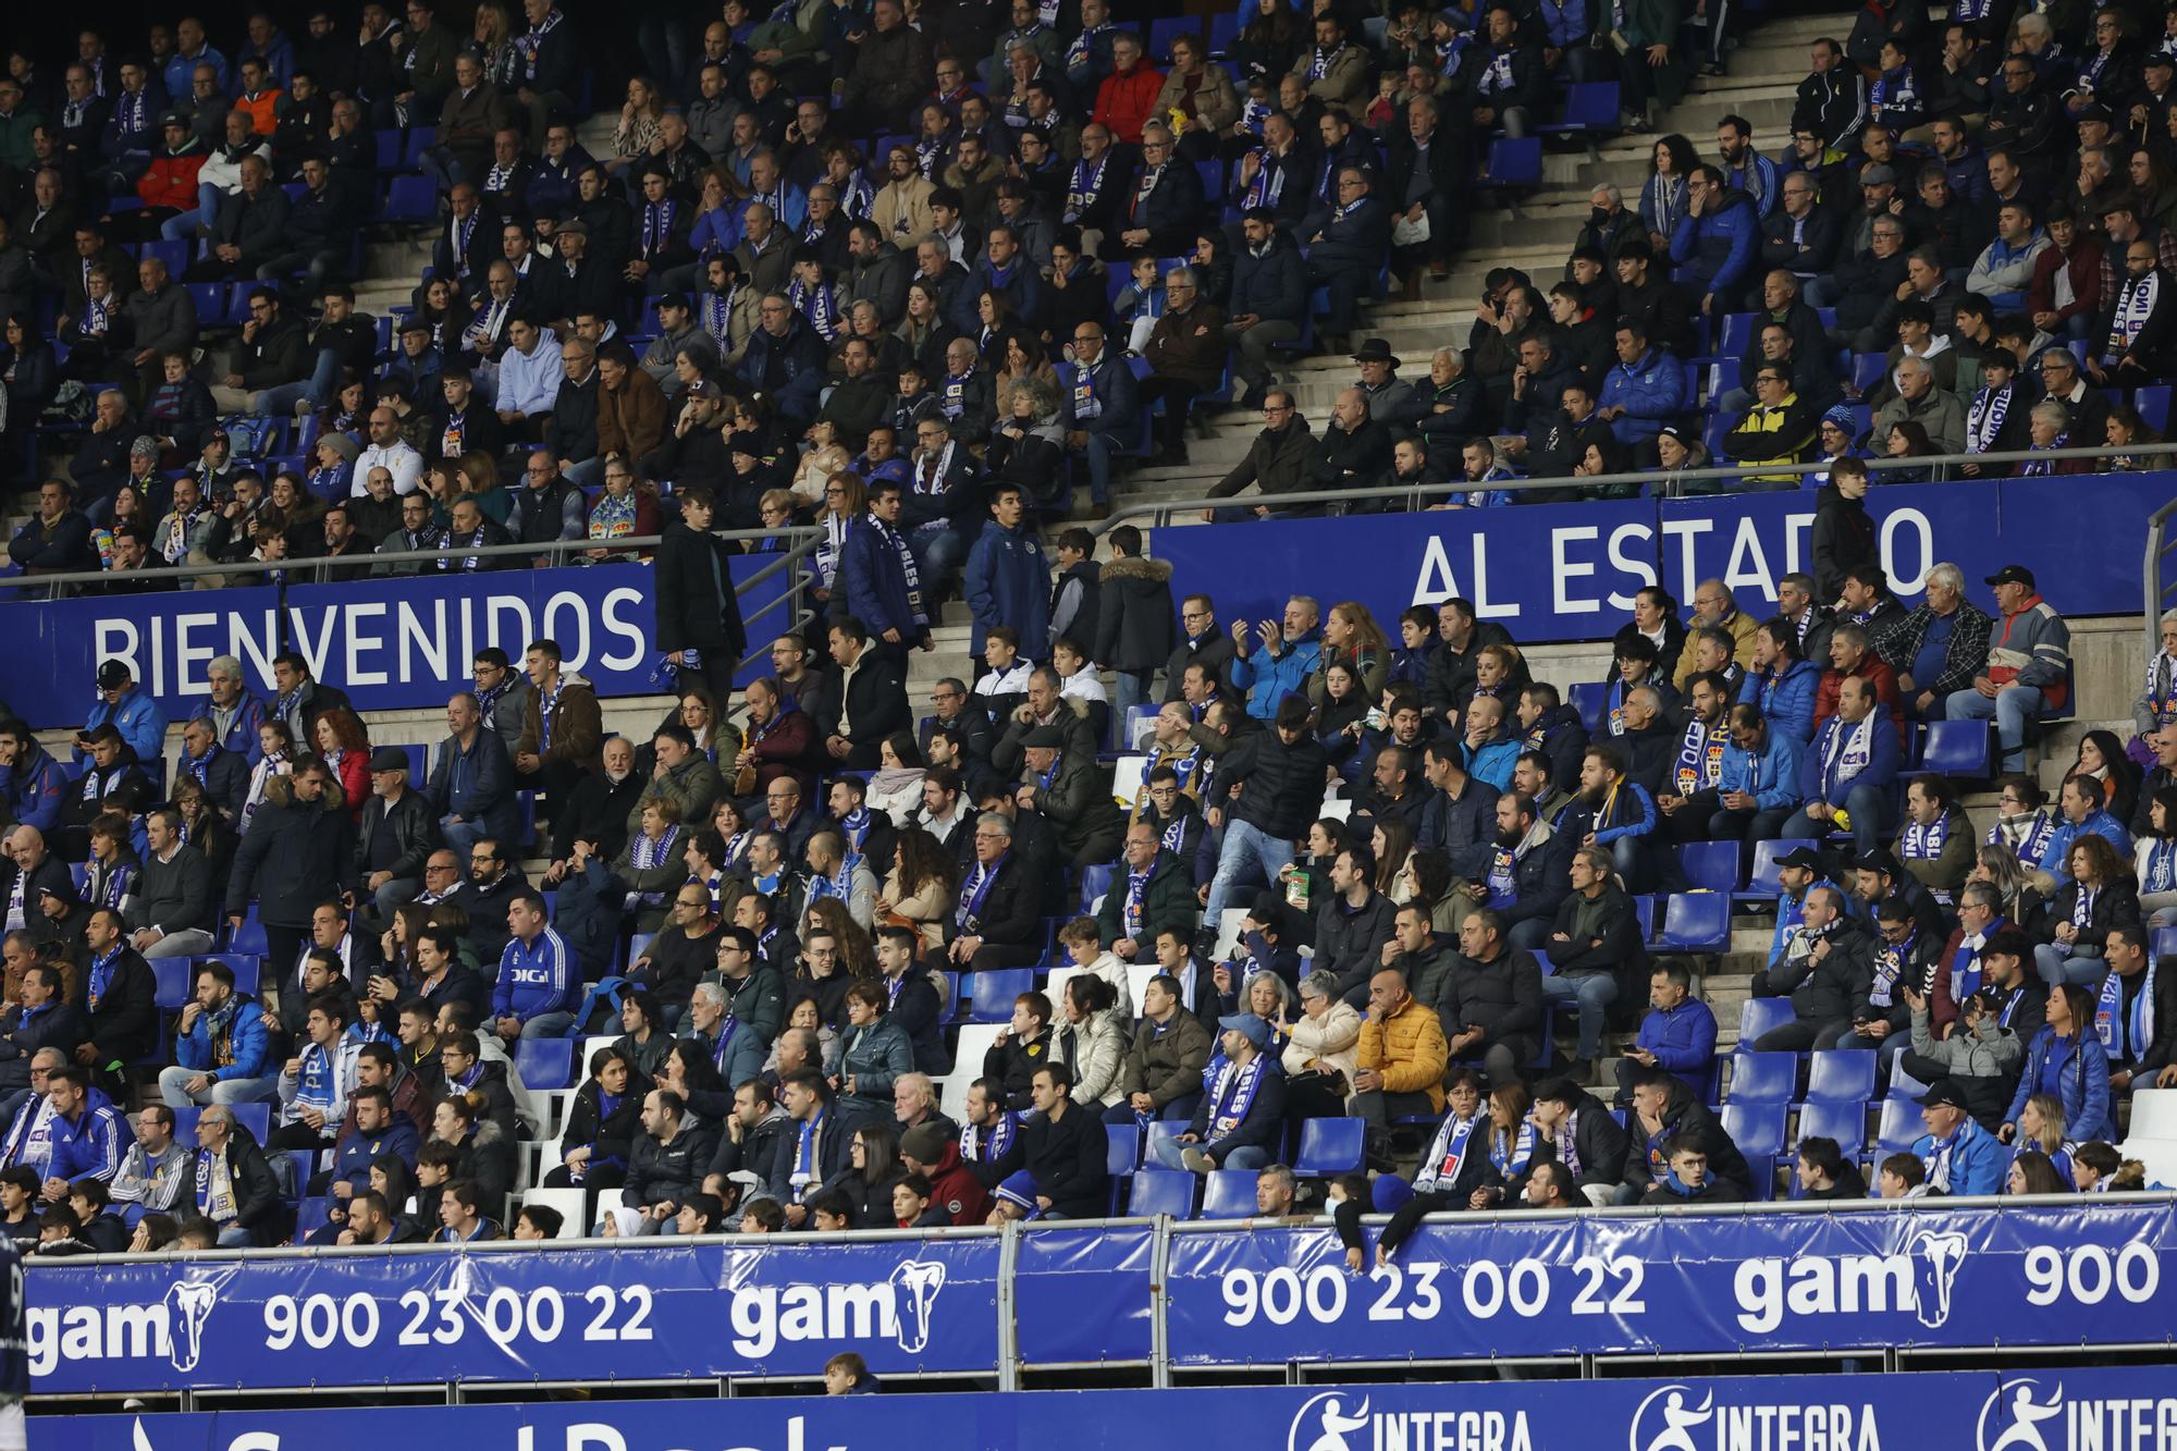
<instances>
[{"instance_id":1,"label":"short plain blue panel between the two gam phone-number banners","mask_svg":"<svg viewBox=\"0 0 2177 1451\"><path fill-rule=\"evenodd\" d=\"M1028 1224L1012 1268L1028 1366L1149 1359L1149 1257L1156 1231Z\"/></svg>"}]
</instances>

